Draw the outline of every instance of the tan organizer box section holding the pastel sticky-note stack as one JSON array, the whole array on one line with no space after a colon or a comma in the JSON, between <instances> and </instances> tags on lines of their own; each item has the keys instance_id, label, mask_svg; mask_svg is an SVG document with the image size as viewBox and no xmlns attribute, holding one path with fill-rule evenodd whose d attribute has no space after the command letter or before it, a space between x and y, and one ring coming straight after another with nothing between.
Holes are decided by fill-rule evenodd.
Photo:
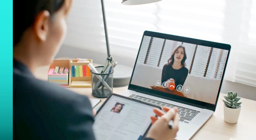
<instances>
[{"instance_id":1,"label":"tan organizer box section holding the pastel sticky-note stack","mask_svg":"<svg viewBox=\"0 0 256 140\"><path fill-rule=\"evenodd\" d=\"M49 66L49 69L48 69L48 72L51 68L55 68L56 66L58 67L69 67L70 66L70 60L69 59L57 59L57 60L54 60L50 66ZM70 68L69 68L69 79L70 81ZM48 79L49 81L49 79ZM69 81L68 81L68 86L63 86L63 87L69 87Z\"/></svg>"}]
</instances>

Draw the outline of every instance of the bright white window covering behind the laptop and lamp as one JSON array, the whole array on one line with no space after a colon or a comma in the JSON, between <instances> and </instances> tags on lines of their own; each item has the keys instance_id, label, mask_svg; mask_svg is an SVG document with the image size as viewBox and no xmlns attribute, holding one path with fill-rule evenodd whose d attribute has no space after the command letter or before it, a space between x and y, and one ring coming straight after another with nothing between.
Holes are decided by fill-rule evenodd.
<instances>
[{"instance_id":1,"label":"bright white window covering behind the laptop and lamp","mask_svg":"<svg viewBox=\"0 0 256 140\"><path fill-rule=\"evenodd\" d=\"M225 79L256 87L255 0L105 0L111 54L136 57L145 30L231 45ZM65 45L106 52L100 0L75 0Z\"/></svg>"}]
</instances>

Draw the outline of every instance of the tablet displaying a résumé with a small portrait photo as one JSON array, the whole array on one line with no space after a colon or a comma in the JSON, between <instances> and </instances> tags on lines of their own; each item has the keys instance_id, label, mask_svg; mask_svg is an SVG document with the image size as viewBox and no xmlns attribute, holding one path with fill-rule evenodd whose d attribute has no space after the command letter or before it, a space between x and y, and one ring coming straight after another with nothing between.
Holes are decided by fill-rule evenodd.
<instances>
[{"instance_id":1,"label":"tablet displaying a r\u00e9sum\u00e9 with a small portrait photo","mask_svg":"<svg viewBox=\"0 0 256 140\"><path fill-rule=\"evenodd\" d=\"M93 132L97 140L140 140L151 127L153 108L160 106L111 94L97 111Z\"/></svg>"}]
</instances>

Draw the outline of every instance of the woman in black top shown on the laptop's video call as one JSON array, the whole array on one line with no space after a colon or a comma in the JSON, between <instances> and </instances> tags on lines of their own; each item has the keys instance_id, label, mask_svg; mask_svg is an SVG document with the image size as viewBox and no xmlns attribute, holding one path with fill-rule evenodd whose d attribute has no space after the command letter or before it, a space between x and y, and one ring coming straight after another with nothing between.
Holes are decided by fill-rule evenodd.
<instances>
[{"instance_id":1,"label":"woman in black top shown on the laptop's video call","mask_svg":"<svg viewBox=\"0 0 256 140\"><path fill-rule=\"evenodd\" d=\"M187 54L185 47L180 45L172 53L168 63L164 65L162 70L162 83L167 82L175 84L175 89L178 85L184 84L187 76L188 69L186 68Z\"/></svg>"}]
</instances>

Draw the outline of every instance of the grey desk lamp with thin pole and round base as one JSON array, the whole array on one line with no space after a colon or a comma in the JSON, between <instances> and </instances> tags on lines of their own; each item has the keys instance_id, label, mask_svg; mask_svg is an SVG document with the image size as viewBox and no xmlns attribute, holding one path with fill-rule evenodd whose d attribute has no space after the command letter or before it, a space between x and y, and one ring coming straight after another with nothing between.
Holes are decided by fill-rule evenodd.
<instances>
[{"instance_id":1,"label":"grey desk lamp with thin pole and round base","mask_svg":"<svg viewBox=\"0 0 256 140\"><path fill-rule=\"evenodd\" d=\"M140 4L147 4L158 2L161 0L123 0L123 5L140 5ZM105 10L104 10L104 3L101 0L101 7L102 7L102 15L103 15L103 23L104 23L104 31L105 31L105 38L106 38L106 47L107 47L107 57L110 55L109 50L109 39L108 39L108 32L107 32L107 25L106 25L106 17L105 17ZM128 86L131 76L132 76L133 68L125 65L121 65L118 63L115 67L115 72L113 74L113 87L124 87Z\"/></svg>"}]
</instances>

